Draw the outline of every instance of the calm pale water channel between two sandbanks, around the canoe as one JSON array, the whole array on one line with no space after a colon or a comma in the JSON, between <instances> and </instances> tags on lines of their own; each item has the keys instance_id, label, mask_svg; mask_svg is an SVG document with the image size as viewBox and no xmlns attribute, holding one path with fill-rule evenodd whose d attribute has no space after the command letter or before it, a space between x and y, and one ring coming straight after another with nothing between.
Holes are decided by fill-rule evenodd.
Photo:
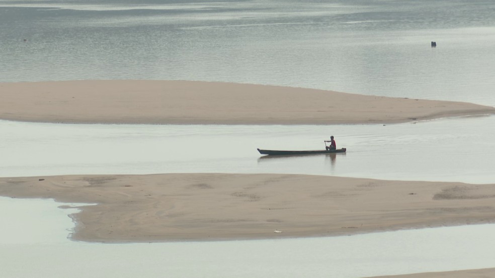
<instances>
[{"instance_id":1,"label":"calm pale water channel between two sandbanks, around the canoe","mask_svg":"<svg viewBox=\"0 0 495 278\"><path fill-rule=\"evenodd\" d=\"M495 116L393 125L108 125L0 121L0 176L289 173L495 183ZM484 129L484 133L478 130ZM266 157L256 150L346 154Z\"/></svg>"}]
</instances>

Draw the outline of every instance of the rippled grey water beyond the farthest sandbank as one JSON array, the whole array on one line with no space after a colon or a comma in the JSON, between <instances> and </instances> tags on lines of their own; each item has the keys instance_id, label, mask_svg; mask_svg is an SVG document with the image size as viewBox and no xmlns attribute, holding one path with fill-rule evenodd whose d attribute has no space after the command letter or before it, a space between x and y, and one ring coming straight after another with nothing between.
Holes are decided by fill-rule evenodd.
<instances>
[{"instance_id":1,"label":"rippled grey water beyond the farthest sandbank","mask_svg":"<svg viewBox=\"0 0 495 278\"><path fill-rule=\"evenodd\" d=\"M495 105L491 0L0 0L0 26L0 81L228 81Z\"/></svg>"}]
</instances>

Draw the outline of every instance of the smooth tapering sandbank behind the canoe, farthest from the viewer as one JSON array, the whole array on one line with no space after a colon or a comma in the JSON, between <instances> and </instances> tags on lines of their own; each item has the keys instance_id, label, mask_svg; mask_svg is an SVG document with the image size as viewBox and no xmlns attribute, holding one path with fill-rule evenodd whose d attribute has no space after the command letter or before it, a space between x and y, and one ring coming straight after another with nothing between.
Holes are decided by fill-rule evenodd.
<instances>
[{"instance_id":1,"label":"smooth tapering sandbank behind the canoe, farthest from the viewer","mask_svg":"<svg viewBox=\"0 0 495 278\"><path fill-rule=\"evenodd\" d=\"M493 114L464 102L200 81L0 83L0 119L64 123L397 123Z\"/></svg>"}]
</instances>

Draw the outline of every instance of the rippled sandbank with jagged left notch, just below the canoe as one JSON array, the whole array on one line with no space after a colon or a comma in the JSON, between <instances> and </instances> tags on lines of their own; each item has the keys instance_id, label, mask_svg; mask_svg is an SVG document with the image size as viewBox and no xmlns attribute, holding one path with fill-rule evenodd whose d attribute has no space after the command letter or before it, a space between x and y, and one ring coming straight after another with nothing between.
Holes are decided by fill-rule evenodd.
<instances>
[{"instance_id":1,"label":"rippled sandbank with jagged left notch, just below the canoe","mask_svg":"<svg viewBox=\"0 0 495 278\"><path fill-rule=\"evenodd\" d=\"M73 238L101 242L328 236L495 221L495 184L280 174L89 175L1 178L0 195L98 203L75 216Z\"/></svg>"}]
</instances>

